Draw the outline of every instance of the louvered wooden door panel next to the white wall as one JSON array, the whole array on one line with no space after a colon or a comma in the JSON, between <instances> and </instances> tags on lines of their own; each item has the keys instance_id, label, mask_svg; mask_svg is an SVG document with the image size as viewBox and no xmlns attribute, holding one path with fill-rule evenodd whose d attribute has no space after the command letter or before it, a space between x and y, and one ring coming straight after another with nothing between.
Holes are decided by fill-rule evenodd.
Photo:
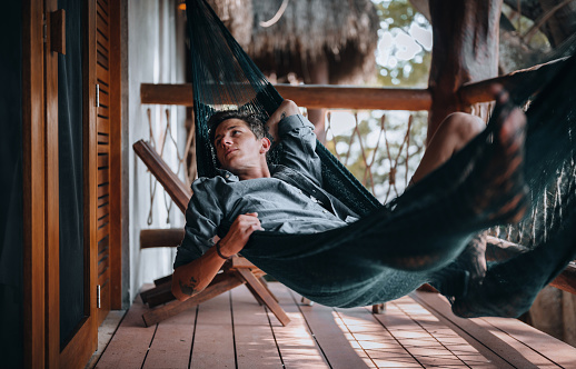
<instances>
[{"instance_id":1,"label":"louvered wooden door panel next to the white wall","mask_svg":"<svg viewBox=\"0 0 576 369\"><path fill-rule=\"evenodd\" d=\"M86 365L98 326L121 308L119 1L86 0L83 20L86 318L61 348L61 367Z\"/></svg>"}]
</instances>

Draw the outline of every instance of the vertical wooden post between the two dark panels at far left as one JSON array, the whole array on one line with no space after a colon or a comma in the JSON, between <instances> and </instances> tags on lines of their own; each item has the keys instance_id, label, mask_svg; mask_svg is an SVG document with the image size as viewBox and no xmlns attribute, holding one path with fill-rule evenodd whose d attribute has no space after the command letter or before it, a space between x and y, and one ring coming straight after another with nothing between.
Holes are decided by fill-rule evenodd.
<instances>
[{"instance_id":1,"label":"vertical wooden post between the two dark panels at far left","mask_svg":"<svg viewBox=\"0 0 576 369\"><path fill-rule=\"evenodd\" d=\"M43 13L43 1L22 2L22 328L24 368L43 368L47 363Z\"/></svg>"}]
</instances>

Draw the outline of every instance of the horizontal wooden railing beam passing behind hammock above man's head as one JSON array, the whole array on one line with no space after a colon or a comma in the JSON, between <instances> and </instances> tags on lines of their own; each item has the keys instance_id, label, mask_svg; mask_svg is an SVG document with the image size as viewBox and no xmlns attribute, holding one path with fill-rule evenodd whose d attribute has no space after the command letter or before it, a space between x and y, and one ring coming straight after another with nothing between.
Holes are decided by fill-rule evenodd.
<instances>
[{"instance_id":1,"label":"horizontal wooden railing beam passing behind hammock above man's head","mask_svg":"<svg viewBox=\"0 0 576 369\"><path fill-rule=\"evenodd\" d=\"M426 89L387 89L350 86L321 84L276 84L285 98L309 109L381 109L381 110L428 110L431 104L430 92ZM153 84L140 86L142 103L193 104L192 86Z\"/></svg>"}]
</instances>

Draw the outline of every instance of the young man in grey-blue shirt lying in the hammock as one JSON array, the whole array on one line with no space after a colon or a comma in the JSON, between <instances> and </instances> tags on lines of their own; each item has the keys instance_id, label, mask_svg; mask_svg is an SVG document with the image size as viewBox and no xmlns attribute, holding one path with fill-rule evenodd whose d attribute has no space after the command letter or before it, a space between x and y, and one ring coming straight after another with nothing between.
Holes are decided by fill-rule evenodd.
<instances>
[{"instance_id":1,"label":"young man in grey-blue shirt lying in the hammock","mask_svg":"<svg viewBox=\"0 0 576 369\"><path fill-rule=\"evenodd\" d=\"M507 98L503 93L500 99L505 102ZM220 170L219 176L200 178L192 184L186 236L178 248L172 278L172 293L179 300L203 290L224 262L242 251L257 230L316 233L357 220L344 203L321 189L314 126L299 114L292 101L285 100L266 123L275 142L281 141L285 146L280 166L268 166L266 154L271 142L266 137L264 124L254 116L219 112L210 123L210 138L213 139ZM449 116L435 133L413 181L430 173L484 128L484 122L477 117L466 113ZM526 208L518 207L525 201L524 190L498 193L501 188L514 188L507 182L517 178L515 173L522 166L524 128L524 113L518 109L509 111L498 131L498 157L493 160L494 168L489 168L490 173L486 176L491 180L475 196L478 208L485 206L483 202L500 201L503 197L506 203L516 206L519 210L506 213L505 221L508 222L518 221ZM225 218L234 221L226 236L219 239L216 233ZM481 286L486 272L481 242L468 243L456 262L466 270L465 278L471 278ZM459 295L451 291L451 283L444 282L443 292ZM461 283L467 285L468 281L456 285ZM470 301L460 305L466 303Z\"/></svg>"}]
</instances>

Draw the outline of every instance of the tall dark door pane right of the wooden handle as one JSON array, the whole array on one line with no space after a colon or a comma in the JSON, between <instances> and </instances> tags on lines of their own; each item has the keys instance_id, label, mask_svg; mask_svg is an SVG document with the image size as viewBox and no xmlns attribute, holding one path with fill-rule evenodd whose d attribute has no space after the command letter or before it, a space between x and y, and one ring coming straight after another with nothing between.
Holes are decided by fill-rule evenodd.
<instances>
[{"instance_id":1,"label":"tall dark door pane right of the wooden handle","mask_svg":"<svg viewBox=\"0 0 576 369\"><path fill-rule=\"evenodd\" d=\"M58 59L60 180L60 342L85 318L82 203L82 3L60 0L66 10L66 56Z\"/></svg>"}]
</instances>

